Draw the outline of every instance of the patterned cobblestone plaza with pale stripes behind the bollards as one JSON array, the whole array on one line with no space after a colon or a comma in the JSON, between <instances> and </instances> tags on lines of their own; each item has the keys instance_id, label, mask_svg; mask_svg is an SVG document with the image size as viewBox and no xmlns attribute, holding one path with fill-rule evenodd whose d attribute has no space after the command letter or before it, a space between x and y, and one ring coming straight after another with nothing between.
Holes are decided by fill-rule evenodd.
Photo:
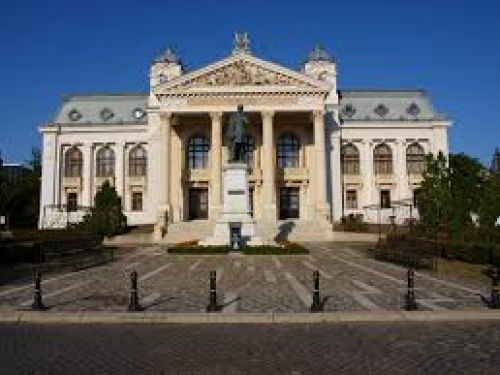
<instances>
[{"instance_id":1,"label":"patterned cobblestone plaza with pale stripes behind the bollards","mask_svg":"<svg viewBox=\"0 0 500 375\"><path fill-rule=\"evenodd\" d=\"M304 312L311 304L312 272L321 275L326 311L399 310L406 288L405 269L368 258L347 244L311 243L309 255L186 256L160 247L117 251L115 261L78 272L44 276L44 303L53 310L123 311L129 273L139 273L141 304L148 311L199 312L208 302L208 276L217 271L224 311ZM422 310L483 309L479 294L489 285L471 285L416 273ZM27 309L31 280L0 287L0 310Z\"/></svg>"}]
</instances>

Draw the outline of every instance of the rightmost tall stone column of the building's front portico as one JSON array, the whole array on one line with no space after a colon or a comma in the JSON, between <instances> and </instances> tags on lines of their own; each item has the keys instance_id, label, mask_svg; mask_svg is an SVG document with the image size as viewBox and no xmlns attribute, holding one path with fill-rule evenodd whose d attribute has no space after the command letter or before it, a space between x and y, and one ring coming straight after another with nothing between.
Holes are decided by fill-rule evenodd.
<instances>
[{"instance_id":1,"label":"rightmost tall stone column of the building's front portico","mask_svg":"<svg viewBox=\"0 0 500 375\"><path fill-rule=\"evenodd\" d=\"M314 149L316 164L316 213L321 219L328 219L329 210L326 197L325 159L325 112L314 111Z\"/></svg>"}]
</instances>

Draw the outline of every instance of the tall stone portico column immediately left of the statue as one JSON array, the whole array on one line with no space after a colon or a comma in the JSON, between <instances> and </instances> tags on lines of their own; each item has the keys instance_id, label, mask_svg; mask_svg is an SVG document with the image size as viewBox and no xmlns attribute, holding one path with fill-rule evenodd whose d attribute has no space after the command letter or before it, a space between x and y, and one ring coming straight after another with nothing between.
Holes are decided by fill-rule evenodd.
<instances>
[{"instance_id":1,"label":"tall stone portico column immediately left of the statue","mask_svg":"<svg viewBox=\"0 0 500 375\"><path fill-rule=\"evenodd\" d=\"M211 165L210 165L210 212L211 220L217 219L221 210L221 176L222 176L222 112L211 112L212 120L212 142L211 142Z\"/></svg>"}]
</instances>

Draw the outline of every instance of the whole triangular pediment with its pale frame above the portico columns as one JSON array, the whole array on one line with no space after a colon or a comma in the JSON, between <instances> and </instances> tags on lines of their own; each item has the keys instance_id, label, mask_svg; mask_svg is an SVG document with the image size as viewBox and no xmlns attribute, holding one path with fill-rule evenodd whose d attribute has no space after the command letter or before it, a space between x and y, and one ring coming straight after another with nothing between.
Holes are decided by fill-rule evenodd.
<instances>
[{"instance_id":1,"label":"whole triangular pediment with its pale frame above the portico columns","mask_svg":"<svg viewBox=\"0 0 500 375\"><path fill-rule=\"evenodd\" d=\"M253 55L239 53L153 88L159 95L214 91L317 91L331 86Z\"/></svg>"}]
</instances>

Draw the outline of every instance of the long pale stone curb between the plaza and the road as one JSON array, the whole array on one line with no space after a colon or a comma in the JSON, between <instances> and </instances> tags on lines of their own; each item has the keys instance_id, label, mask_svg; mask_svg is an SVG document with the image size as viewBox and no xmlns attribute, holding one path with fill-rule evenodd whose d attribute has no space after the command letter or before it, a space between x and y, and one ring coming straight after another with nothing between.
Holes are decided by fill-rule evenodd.
<instances>
[{"instance_id":1,"label":"long pale stone curb between the plaza and the road","mask_svg":"<svg viewBox=\"0 0 500 375\"><path fill-rule=\"evenodd\" d=\"M0 323L39 324L320 324L435 321L500 321L500 310L326 313L0 312Z\"/></svg>"}]
</instances>

